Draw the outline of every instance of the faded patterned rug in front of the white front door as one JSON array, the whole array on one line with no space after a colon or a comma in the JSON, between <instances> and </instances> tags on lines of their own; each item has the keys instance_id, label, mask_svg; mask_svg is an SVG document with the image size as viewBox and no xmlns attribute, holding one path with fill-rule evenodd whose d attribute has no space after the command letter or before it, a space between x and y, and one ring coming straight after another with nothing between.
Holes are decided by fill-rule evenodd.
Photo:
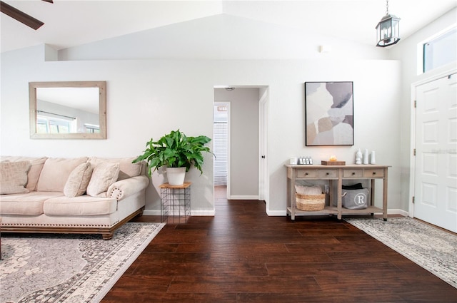
<instances>
[{"instance_id":1,"label":"faded patterned rug in front of the white front door","mask_svg":"<svg viewBox=\"0 0 457 303\"><path fill-rule=\"evenodd\" d=\"M457 288L457 235L411 217L345 220Z\"/></svg>"}]
</instances>

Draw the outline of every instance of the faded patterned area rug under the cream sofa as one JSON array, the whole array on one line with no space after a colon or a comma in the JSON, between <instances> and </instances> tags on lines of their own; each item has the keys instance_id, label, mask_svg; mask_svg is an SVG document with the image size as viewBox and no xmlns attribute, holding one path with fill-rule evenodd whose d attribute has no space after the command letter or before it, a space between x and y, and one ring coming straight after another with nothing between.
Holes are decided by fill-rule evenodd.
<instances>
[{"instance_id":1,"label":"faded patterned area rug under the cream sofa","mask_svg":"<svg viewBox=\"0 0 457 303\"><path fill-rule=\"evenodd\" d=\"M0 302L100 302L164 227L124 224L101 235L1 235Z\"/></svg>"}]
</instances>

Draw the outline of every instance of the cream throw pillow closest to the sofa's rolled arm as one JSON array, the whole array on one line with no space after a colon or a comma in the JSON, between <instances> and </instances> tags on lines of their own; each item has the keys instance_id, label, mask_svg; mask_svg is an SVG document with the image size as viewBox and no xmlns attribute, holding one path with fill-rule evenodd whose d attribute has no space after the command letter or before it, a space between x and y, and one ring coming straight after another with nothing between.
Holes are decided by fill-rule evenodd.
<instances>
[{"instance_id":1,"label":"cream throw pillow closest to the sofa's rolled arm","mask_svg":"<svg viewBox=\"0 0 457 303\"><path fill-rule=\"evenodd\" d=\"M96 165L87 186L87 195L91 197L106 197L109 185L119 177L119 163L101 163Z\"/></svg>"}]
</instances>

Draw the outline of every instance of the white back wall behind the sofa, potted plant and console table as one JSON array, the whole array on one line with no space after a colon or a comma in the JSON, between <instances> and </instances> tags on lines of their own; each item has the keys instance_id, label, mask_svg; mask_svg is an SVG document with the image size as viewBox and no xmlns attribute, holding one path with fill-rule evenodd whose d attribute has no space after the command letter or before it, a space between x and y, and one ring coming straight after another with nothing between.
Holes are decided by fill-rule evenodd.
<instances>
[{"instance_id":1,"label":"white back wall behind the sofa, potted plant and console table","mask_svg":"<svg viewBox=\"0 0 457 303\"><path fill-rule=\"evenodd\" d=\"M151 137L180 128L189 135L211 137L214 86L268 86L268 175L270 215L285 215L286 169L291 155L329 155L353 163L358 148L376 150L389 171L389 205L401 202L400 117L401 75L398 61L377 60L126 60L44 61L44 47L1 54L1 155L75 157L139 155ZM107 81L107 140L31 140L29 81ZM304 82L353 81L353 147L306 148ZM204 174L188 174L194 215L214 213L213 160L206 157ZM154 176L147 192L146 214L158 211Z\"/></svg>"}]
</instances>

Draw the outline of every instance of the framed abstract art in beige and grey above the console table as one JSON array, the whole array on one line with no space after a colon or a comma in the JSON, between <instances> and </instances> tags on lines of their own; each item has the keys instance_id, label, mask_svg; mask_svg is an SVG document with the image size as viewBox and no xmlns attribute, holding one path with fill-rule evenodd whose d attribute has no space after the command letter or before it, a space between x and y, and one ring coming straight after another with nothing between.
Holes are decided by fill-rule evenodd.
<instances>
[{"instance_id":1,"label":"framed abstract art in beige and grey above the console table","mask_svg":"<svg viewBox=\"0 0 457 303\"><path fill-rule=\"evenodd\" d=\"M354 145L353 83L305 82L306 146Z\"/></svg>"}]
</instances>

